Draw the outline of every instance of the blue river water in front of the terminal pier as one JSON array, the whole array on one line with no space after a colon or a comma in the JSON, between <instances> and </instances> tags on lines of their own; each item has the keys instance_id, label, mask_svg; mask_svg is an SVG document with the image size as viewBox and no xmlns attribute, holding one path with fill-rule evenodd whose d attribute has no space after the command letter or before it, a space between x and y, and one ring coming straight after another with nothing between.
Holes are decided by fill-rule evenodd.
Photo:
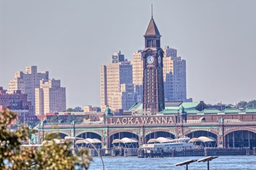
<instances>
[{"instance_id":1,"label":"blue river water in front of the terminal pier","mask_svg":"<svg viewBox=\"0 0 256 170\"><path fill-rule=\"evenodd\" d=\"M204 157L103 157L105 170L185 170L178 162ZM100 158L93 157L89 170L102 170ZM193 162L188 170L207 170L207 162ZM256 156L220 156L210 161L210 170L256 170Z\"/></svg>"}]
</instances>

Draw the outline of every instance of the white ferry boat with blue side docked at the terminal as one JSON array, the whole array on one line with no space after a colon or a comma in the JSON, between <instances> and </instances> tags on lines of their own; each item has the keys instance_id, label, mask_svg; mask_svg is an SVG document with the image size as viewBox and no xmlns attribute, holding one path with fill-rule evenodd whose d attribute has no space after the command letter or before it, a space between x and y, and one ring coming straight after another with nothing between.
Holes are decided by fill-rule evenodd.
<instances>
[{"instance_id":1,"label":"white ferry boat with blue side docked at the terminal","mask_svg":"<svg viewBox=\"0 0 256 170\"><path fill-rule=\"evenodd\" d=\"M181 151L184 149L194 149L193 143L189 143L190 138L180 138L180 139L171 139L171 138L157 138L148 140L148 144L144 144L142 148L150 152L153 151L171 151L176 149Z\"/></svg>"}]
</instances>

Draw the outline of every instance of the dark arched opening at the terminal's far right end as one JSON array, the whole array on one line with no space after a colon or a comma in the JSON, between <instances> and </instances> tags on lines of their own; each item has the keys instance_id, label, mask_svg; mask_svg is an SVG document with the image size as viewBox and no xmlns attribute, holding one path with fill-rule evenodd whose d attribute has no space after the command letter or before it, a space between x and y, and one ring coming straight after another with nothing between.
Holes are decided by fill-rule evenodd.
<instances>
[{"instance_id":1,"label":"dark arched opening at the terminal's far right end","mask_svg":"<svg viewBox=\"0 0 256 170\"><path fill-rule=\"evenodd\" d=\"M225 135L226 147L256 147L256 133L252 131L233 131Z\"/></svg>"}]
</instances>

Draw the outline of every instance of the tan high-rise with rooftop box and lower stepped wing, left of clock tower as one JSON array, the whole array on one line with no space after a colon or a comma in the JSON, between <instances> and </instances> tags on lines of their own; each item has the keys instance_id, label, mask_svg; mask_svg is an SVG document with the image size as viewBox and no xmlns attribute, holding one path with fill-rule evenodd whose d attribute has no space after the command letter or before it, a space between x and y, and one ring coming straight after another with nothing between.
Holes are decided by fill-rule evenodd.
<instances>
[{"instance_id":1,"label":"tan high-rise with rooftop box and lower stepped wing, left of clock tower","mask_svg":"<svg viewBox=\"0 0 256 170\"><path fill-rule=\"evenodd\" d=\"M113 56L119 56L117 62L109 65L100 66L100 97L101 111L108 106L112 111L117 109L128 110L136 102L140 102L141 96L135 92L132 84L132 65L127 59L120 60L120 55L114 53ZM116 59L116 58L114 58Z\"/></svg>"}]
</instances>

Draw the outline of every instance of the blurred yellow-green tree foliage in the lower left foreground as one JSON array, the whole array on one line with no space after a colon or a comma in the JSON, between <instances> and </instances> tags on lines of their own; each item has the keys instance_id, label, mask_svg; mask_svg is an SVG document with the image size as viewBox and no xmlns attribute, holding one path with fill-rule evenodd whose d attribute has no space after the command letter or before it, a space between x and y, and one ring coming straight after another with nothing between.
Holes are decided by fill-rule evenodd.
<instances>
[{"instance_id":1,"label":"blurred yellow-green tree foliage in the lower left foreground","mask_svg":"<svg viewBox=\"0 0 256 170\"><path fill-rule=\"evenodd\" d=\"M20 147L22 141L27 141L29 136L28 128L11 132L6 128L16 114L6 109L0 115L0 167L2 170L75 170L75 166L88 169L92 160L88 157L87 151L83 157L73 156L70 142L64 141L57 144L54 140L44 143L40 148ZM56 136L47 136L45 139L52 139ZM60 138L60 137L58 137ZM16 151L14 151L16 149ZM7 161L7 163L4 161Z\"/></svg>"}]
</instances>

